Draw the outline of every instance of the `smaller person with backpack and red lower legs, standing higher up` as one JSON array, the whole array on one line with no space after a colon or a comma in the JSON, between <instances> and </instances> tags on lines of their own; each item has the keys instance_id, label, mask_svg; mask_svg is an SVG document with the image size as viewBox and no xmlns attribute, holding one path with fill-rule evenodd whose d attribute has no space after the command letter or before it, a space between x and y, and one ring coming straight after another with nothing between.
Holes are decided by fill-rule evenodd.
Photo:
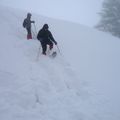
<instances>
[{"instance_id":1,"label":"smaller person with backpack and red lower legs, standing higher up","mask_svg":"<svg viewBox=\"0 0 120 120\"><path fill-rule=\"evenodd\" d=\"M35 21L31 21L31 13L27 14L27 18L23 21L23 27L27 30L27 39L32 39L32 33L31 33L31 23L35 23Z\"/></svg>"}]
</instances>

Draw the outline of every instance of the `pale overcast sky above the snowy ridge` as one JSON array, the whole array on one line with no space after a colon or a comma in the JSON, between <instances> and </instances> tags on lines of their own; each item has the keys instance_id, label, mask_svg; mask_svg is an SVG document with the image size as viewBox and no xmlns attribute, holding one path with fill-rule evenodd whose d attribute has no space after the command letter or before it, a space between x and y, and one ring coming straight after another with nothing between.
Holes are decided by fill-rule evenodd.
<instances>
[{"instance_id":1,"label":"pale overcast sky above the snowy ridge","mask_svg":"<svg viewBox=\"0 0 120 120\"><path fill-rule=\"evenodd\" d=\"M77 22L90 27L100 17L103 0L0 0L0 3L41 15Z\"/></svg>"}]
</instances>

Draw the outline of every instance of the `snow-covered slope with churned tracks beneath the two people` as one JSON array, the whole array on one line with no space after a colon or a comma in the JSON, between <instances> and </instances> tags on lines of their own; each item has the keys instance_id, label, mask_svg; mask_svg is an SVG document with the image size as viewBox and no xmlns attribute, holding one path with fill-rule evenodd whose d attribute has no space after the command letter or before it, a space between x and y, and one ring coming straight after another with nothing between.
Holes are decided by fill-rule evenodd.
<instances>
[{"instance_id":1,"label":"snow-covered slope with churned tracks beneath the two people","mask_svg":"<svg viewBox=\"0 0 120 120\"><path fill-rule=\"evenodd\" d=\"M62 53L36 61L40 44L22 28L27 12L0 6L0 13L0 120L120 119L119 39L33 14Z\"/></svg>"}]
</instances>

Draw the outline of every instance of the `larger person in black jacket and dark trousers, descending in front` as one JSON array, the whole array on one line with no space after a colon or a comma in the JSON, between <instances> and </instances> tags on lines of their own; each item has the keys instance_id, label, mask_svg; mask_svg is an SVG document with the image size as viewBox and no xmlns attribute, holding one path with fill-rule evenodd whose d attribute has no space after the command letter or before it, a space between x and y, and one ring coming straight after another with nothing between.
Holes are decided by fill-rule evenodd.
<instances>
[{"instance_id":1,"label":"larger person in black jacket and dark trousers, descending in front","mask_svg":"<svg viewBox=\"0 0 120 120\"><path fill-rule=\"evenodd\" d=\"M42 45L42 54L46 55L47 45L49 49L52 50L53 42L57 45L57 42L54 40L52 33L48 30L48 24L44 24L43 28L38 32L37 39Z\"/></svg>"}]
</instances>

